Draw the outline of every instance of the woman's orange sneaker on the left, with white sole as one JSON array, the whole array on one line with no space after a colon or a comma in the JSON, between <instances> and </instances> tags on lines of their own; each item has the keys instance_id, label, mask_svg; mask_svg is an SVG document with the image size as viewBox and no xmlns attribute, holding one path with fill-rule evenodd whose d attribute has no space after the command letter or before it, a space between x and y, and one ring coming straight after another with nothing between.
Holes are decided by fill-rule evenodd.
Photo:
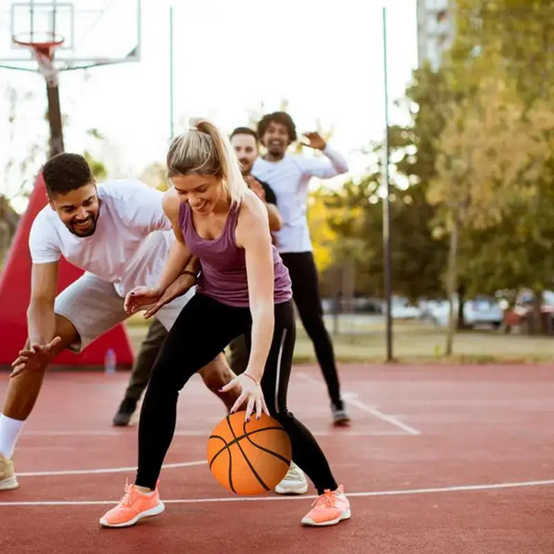
<instances>
[{"instance_id":1,"label":"woman's orange sneaker on the left, with white sole","mask_svg":"<svg viewBox=\"0 0 554 554\"><path fill-rule=\"evenodd\" d=\"M139 492L135 485L125 483L125 494L115 508L108 510L100 517L104 527L129 527L143 517L158 515L165 510L160 500L158 488L152 492Z\"/></svg>"}]
</instances>

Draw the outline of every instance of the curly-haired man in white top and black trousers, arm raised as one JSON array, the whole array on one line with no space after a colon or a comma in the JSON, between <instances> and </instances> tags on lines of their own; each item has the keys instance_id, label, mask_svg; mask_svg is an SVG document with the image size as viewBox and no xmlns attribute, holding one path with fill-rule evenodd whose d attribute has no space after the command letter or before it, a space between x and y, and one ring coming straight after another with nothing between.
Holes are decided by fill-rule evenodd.
<instances>
[{"instance_id":1,"label":"curly-haired man in white top and black trousers, arm raised","mask_svg":"<svg viewBox=\"0 0 554 554\"><path fill-rule=\"evenodd\" d=\"M350 420L341 398L332 342L323 323L318 274L306 214L310 179L326 179L345 173L348 163L315 132L305 133L307 146L321 150L326 159L287 154L287 148L297 136L294 121L284 111L263 116L258 123L258 136L267 153L256 159L252 175L271 186L277 197L277 207L283 218L283 228L276 233L277 248L289 270L298 315L314 343L331 400L334 425L346 426Z\"/></svg>"}]
</instances>

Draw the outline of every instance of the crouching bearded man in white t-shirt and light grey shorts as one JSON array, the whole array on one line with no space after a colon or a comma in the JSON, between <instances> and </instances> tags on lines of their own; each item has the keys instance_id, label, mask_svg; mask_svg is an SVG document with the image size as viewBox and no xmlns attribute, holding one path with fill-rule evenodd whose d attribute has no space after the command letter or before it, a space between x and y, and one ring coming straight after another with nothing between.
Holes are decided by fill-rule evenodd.
<instances>
[{"instance_id":1,"label":"crouching bearded man in white t-shirt and light grey shorts","mask_svg":"<svg viewBox=\"0 0 554 554\"><path fill-rule=\"evenodd\" d=\"M48 363L63 348L79 352L125 321L125 294L137 285L157 285L172 245L158 190L134 179L97 187L87 161L78 154L57 154L46 162L42 175L49 204L35 217L29 235L33 267L28 342L12 364L0 414L0 490L18 486L12 453ZM56 296L61 256L85 273ZM190 260L179 287L193 287L195 280L195 260ZM194 292L178 296L177 286L168 293L172 301L157 312L167 329ZM200 373L231 408L236 395L217 392L233 377L224 355Z\"/></svg>"}]
</instances>

